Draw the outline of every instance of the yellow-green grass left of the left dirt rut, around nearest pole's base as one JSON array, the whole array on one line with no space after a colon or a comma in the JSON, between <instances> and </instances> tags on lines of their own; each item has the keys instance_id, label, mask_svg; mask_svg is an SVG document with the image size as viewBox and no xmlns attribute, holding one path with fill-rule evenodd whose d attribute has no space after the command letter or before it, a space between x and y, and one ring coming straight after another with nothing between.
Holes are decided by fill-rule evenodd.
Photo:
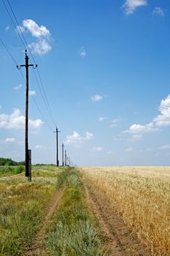
<instances>
[{"instance_id":1,"label":"yellow-green grass left of the left dirt rut, around nearest pole's base","mask_svg":"<svg viewBox=\"0 0 170 256\"><path fill-rule=\"evenodd\" d=\"M58 170L33 167L31 183L24 173L0 177L0 255L20 255L31 245L57 187Z\"/></svg>"}]
</instances>

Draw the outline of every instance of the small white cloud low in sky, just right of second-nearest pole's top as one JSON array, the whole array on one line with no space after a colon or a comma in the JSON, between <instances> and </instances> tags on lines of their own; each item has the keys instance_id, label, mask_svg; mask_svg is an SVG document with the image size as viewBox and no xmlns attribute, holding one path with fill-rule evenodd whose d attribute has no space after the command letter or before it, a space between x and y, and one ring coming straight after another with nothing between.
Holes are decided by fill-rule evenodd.
<instances>
[{"instance_id":1,"label":"small white cloud low in sky, just right of second-nearest pole's top","mask_svg":"<svg viewBox=\"0 0 170 256\"><path fill-rule=\"evenodd\" d=\"M74 131L72 135L66 136L65 144L80 146L82 143L85 143L85 141L92 140L92 139L93 139L93 134L90 132L86 132L85 137L82 137L78 132Z\"/></svg>"}]
</instances>

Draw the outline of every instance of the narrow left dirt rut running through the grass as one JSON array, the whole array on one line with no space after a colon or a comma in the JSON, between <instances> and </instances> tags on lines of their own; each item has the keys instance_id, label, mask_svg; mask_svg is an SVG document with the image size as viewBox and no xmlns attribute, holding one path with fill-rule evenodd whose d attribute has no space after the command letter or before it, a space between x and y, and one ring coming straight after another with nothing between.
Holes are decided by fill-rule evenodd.
<instances>
[{"instance_id":1,"label":"narrow left dirt rut running through the grass","mask_svg":"<svg viewBox=\"0 0 170 256\"><path fill-rule=\"evenodd\" d=\"M39 227L39 231L36 234L34 241L31 245L31 249L26 250L23 252L23 256L44 256L46 255L45 246L44 246L44 239L45 239L45 232L47 227L54 221L54 214L60 206L61 197L63 196L63 190L56 191L53 195L53 198L50 200L49 205L47 206L47 215L42 221L42 225Z\"/></svg>"}]
</instances>

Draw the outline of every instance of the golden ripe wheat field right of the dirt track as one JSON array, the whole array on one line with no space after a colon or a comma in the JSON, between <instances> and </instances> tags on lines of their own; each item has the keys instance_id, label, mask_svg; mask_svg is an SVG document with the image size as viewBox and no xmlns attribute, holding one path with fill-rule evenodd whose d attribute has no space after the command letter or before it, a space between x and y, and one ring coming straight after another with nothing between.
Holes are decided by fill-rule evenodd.
<instances>
[{"instance_id":1,"label":"golden ripe wheat field right of the dirt track","mask_svg":"<svg viewBox=\"0 0 170 256\"><path fill-rule=\"evenodd\" d=\"M82 167L152 255L170 255L170 167Z\"/></svg>"}]
</instances>

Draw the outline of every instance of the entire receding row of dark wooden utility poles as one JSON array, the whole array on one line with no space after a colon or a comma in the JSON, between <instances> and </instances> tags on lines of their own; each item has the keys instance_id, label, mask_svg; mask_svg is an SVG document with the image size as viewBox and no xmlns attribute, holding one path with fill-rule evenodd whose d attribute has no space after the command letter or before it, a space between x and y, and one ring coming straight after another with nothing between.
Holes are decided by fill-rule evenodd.
<instances>
[{"instance_id":1,"label":"entire receding row of dark wooden utility poles","mask_svg":"<svg viewBox=\"0 0 170 256\"><path fill-rule=\"evenodd\" d=\"M26 64L17 65L18 69L21 69L21 67L26 67L26 124L25 124L25 160L26 160L26 177L28 178L28 181L31 181L31 149L28 149L28 67L33 67L36 69L37 65L34 66L34 64L28 64L28 55L27 50L26 52ZM55 133L56 133L56 165L59 166L59 160L58 160L58 128L56 127ZM65 154L63 155L63 148L64 145L62 144L62 166L72 165L72 162L69 157Z\"/></svg>"}]
</instances>

